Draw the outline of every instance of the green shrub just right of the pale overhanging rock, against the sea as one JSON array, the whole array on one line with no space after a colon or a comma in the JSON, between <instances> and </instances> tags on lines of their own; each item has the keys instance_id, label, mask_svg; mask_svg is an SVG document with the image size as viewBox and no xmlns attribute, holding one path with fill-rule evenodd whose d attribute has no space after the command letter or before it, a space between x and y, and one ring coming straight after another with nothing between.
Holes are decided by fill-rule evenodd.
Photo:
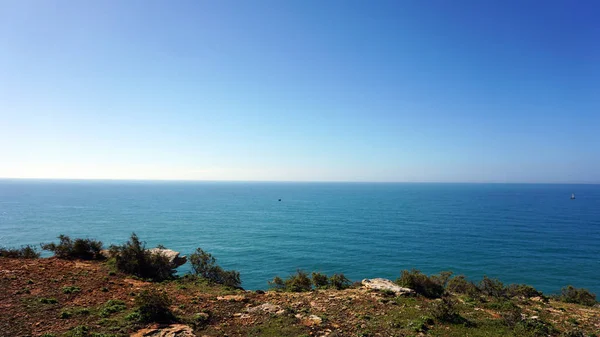
<instances>
[{"instance_id":1,"label":"green shrub just right of the pale overhanging rock, against the sea","mask_svg":"<svg viewBox=\"0 0 600 337\"><path fill-rule=\"evenodd\" d=\"M209 281L233 288L238 288L242 283L239 272L223 270L216 264L216 259L202 248L196 248L196 251L190 255L190 263L195 275Z\"/></svg>"}]
</instances>

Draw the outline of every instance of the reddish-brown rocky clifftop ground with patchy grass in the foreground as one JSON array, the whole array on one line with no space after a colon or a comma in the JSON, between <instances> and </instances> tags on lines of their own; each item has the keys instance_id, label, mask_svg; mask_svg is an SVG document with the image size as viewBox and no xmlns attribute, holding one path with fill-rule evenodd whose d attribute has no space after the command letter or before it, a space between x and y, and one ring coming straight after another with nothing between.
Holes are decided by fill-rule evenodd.
<instances>
[{"instance_id":1,"label":"reddish-brown rocky clifftop ground with patchy grass in the foreground","mask_svg":"<svg viewBox=\"0 0 600 337\"><path fill-rule=\"evenodd\" d=\"M135 298L166 292L171 322ZM367 289L250 292L201 280L149 283L102 262L0 258L0 336L592 336L600 308L540 298L446 300ZM175 332L177 333L175 333Z\"/></svg>"}]
</instances>

